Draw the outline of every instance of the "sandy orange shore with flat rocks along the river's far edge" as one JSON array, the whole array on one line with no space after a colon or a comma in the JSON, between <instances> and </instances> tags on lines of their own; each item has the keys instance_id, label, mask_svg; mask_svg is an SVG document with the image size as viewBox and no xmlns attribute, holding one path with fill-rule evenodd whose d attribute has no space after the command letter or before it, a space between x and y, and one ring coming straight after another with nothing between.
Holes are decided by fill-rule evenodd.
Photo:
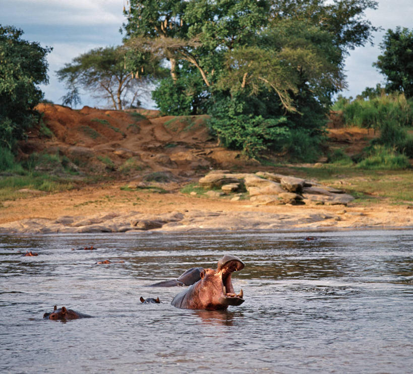
<instances>
[{"instance_id":1,"label":"sandy orange shore with flat rocks along the river's far edge","mask_svg":"<svg viewBox=\"0 0 413 374\"><path fill-rule=\"evenodd\" d=\"M87 186L53 194L27 193L5 201L2 233L126 232L156 230L336 230L413 228L413 209L386 201L362 205L260 205L168 193Z\"/></svg>"}]
</instances>

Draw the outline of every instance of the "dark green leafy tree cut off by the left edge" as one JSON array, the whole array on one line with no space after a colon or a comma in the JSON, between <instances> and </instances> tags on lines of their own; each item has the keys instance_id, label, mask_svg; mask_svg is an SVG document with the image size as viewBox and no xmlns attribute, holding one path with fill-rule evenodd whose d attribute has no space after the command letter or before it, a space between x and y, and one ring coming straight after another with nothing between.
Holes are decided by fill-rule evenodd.
<instances>
[{"instance_id":1,"label":"dark green leafy tree cut off by the left edge","mask_svg":"<svg viewBox=\"0 0 413 374\"><path fill-rule=\"evenodd\" d=\"M52 50L21 38L23 30L0 25L0 147L11 149L36 120L48 83L46 55Z\"/></svg>"}]
</instances>

